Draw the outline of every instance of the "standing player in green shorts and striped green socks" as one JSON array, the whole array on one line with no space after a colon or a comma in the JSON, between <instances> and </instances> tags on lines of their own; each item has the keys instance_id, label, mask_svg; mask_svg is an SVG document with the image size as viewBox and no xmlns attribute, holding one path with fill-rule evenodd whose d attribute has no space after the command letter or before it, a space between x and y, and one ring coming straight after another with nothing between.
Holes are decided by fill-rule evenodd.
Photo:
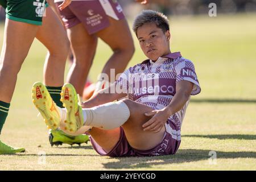
<instances>
[{"instance_id":1,"label":"standing player in green shorts and striped green socks","mask_svg":"<svg viewBox=\"0 0 256 182\"><path fill-rule=\"evenodd\" d=\"M59 8L64 9L70 2L71 0L65 0ZM1 133L9 112L17 75L33 40L37 38L48 49L44 65L44 83L48 85L49 92L59 90L63 85L69 42L56 14L52 9L46 8L46 1L1 0L0 5L6 10L0 68ZM56 93L58 94L55 95L59 98L59 92ZM57 101L57 97L53 97L53 100ZM15 154L24 151L24 148L14 148L0 141L0 154Z\"/></svg>"}]
</instances>

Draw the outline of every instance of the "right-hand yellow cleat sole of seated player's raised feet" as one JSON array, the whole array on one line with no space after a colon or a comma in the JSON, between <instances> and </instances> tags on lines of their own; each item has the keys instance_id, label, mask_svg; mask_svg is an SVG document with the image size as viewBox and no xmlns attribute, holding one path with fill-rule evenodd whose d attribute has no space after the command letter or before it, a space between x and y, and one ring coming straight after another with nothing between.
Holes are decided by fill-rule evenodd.
<instances>
[{"instance_id":1,"label":"right-hand yellow cleat sole of seated player's raised feet","mask_svg":"<svg viewBox=\"0 0 256 182\"><path fill-rule=\"evenodd\" d=\"M71 84L64 84L60 95L63 106L67 109L67 120L64 121L65 130L74 133L84 125L84 116L82 115L82 107L79 105L79 97L76 89Z\"/></svg>"}]
</instances>

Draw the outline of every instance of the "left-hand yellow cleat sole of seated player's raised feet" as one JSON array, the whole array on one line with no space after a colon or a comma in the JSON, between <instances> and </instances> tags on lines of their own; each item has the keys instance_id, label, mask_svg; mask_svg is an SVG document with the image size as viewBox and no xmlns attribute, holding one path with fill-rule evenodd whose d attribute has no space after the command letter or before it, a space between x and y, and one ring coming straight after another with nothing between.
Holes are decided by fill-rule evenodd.
<instances>
[{"instance_id":1,"label":"left-hand yellow cleat sole of seated player's raised feet","mask_svg":"<svg viewBox=\"0 0 256 182\"><path fill-rule=\"evenodd\" d=\"M44 118L48 129L56 130L60 125L60 111L46 86L41 82L36 82L32 86L32 101Z\"/></svg>"}]
</instances>

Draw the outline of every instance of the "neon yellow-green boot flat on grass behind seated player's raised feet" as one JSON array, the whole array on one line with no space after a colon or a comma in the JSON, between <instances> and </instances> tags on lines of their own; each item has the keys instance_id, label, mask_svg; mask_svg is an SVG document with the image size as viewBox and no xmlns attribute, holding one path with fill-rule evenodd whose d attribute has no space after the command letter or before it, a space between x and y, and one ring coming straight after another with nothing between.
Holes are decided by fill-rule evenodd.
<instances>
[{"instance_id":1,"label":"neon yellow-green boot flat on grass behind seated player's raised feet","mask_svg":"<svg viewBox=\"0 0 256 182\"><path fill-rule=\"evenodd\" d=\"M73 144L82 144L82 143L88 143L89 137L88 135L77 135L77 136L71 136L65 134L61 130L51 130L49 131L49 142L51 143L51 146L59 146L63 143L70 144L71 146Z\"/></svg>"}]
</instances>

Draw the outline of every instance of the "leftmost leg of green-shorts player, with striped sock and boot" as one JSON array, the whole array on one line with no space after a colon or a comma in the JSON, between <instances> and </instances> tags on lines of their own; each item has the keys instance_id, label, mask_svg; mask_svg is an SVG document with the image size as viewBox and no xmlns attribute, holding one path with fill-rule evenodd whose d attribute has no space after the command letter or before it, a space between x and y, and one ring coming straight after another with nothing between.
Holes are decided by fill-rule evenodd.
<instances>
[{"instance_id":1,"label":"leftmost leg of green-shorts player, with striped sock and boot","mask_svg":"<svg viewBox=\"0 0 256 182\"><path fill-rule=\"evenodd\" d=\"M6 18L0 68L0 133L9 111L18 72L37 31L38 26ZM24 151L24 148L15 149L0 141L0 154L21 151Z\"/></svg>"}]
</instances>

